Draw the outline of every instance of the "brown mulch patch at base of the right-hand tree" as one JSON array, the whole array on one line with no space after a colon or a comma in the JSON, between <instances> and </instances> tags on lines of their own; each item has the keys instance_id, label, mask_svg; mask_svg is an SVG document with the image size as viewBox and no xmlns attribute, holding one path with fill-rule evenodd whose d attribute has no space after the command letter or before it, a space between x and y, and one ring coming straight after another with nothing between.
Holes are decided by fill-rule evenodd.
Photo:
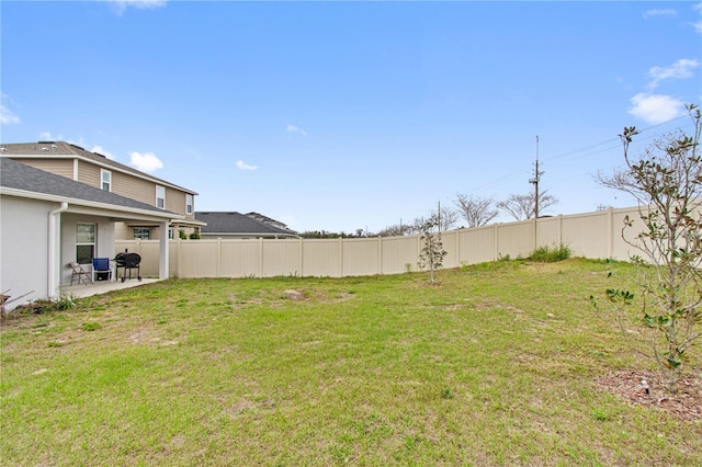
<instances>
[{"instance_id":1,"label":"brown mulch patch at base of the right-hand tree","mask_svg":"<svg viewBox=\"0 0 702 467\"><path fill-rule=\"evenodd\" d=\"M699 375L683 375L678 381L676 394L667 392L663 376L653 371L610 373L598 378L596 383L602 390L634 406L663 410L679 420L702 421L702 378Z\"/></svg>"}]
</instances>

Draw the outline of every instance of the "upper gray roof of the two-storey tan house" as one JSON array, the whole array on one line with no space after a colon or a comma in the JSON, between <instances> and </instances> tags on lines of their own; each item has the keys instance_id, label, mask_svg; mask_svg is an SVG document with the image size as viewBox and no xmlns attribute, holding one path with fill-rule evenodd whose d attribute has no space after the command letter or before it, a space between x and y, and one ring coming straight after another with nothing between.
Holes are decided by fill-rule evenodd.
<instances>
[{"instance_id":1,"label":"upper gray roof of the two-storey tan house","mask_svg":"<svg viewBox=\"0 0 702 467\"><path fill-rule=\"evenodd\" d=\"M105 156L100 155L98 152L88 151L80 146L71 145L70 143L65 141L38 141L38 143L12 143L12 144L2 144L0 145L0 156L2 157L80 157L88 159L92 162L95 162L100 166L111 167L115 170L124 171L132 173L136 176L145 178L151 180L158 184L163 184L168 186L172 186L174 189L181 190L185 193L194 194L192 190L184 189L182 186L176 185L171 182L167 182L166 180L158 179L156 176L149 175L148 173L144 173L139 170L136 170L129 166L125 166L112 159L107 159Z\"/></svg>"}]
</instances>

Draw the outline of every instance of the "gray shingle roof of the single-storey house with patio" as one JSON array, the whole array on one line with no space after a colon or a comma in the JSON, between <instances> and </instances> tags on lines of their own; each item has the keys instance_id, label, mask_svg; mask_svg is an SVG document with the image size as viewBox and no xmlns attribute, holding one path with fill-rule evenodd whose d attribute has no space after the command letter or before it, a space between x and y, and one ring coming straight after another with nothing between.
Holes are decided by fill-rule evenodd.
<instances>
[{"instance_id":1,"label":"gray shingle roof of the single-storey house with patio","mask_svg":"<svg viewBox=\"0 0 702 467\"><path fill-rule=\"evenodd\" d=\"M182 217L179 214L169 213L156 206L105 192L94 186L45 172L4 157L0 158L0 187L53 195L67 200L101 203L129 209L150 210L159 214L159 217L165 217L163 214L170 214L173 218Z\"/></svg>"}]
</instances>

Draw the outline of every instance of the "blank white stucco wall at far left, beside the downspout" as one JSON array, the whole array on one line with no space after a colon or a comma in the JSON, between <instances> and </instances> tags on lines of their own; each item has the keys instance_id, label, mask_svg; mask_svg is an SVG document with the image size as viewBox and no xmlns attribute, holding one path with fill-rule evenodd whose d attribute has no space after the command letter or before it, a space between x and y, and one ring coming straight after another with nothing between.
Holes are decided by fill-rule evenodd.
<instances>
[{"instance_id":1,"label":"blank white stucco wall at far left, beside the downspout","mask_svg":"<svg viewBox=\"0 0 702 467\"><path fill-rule=\"evenodd\" d=\"M10 289L9 295L18 297L34 291L8 309L47 296L48 213L58 207L58 203L0 197L0 292Z\"/></svg>"}]
</instances>

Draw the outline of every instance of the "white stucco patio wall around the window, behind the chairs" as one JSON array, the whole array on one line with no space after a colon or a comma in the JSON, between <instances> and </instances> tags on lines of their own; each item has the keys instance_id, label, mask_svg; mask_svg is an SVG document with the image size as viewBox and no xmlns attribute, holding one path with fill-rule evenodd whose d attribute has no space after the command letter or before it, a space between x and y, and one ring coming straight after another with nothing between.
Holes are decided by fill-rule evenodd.
<instances>
[{"instance_id":1,"label":"white stucco patio wall around the window, behind the chairs","mask_svg":"<svg viewBox=\"0 0 702 467\"><path fill-rule=\"evenodd\" d=\"M76 225L95 224L95 258L114 258L114 223L105 217L81 214L61 214L61 274L60 284L70 285L71 269L69 263L76 261ZM91 271L91 266L84 266Z\"/></svg>"}]
</instances>

